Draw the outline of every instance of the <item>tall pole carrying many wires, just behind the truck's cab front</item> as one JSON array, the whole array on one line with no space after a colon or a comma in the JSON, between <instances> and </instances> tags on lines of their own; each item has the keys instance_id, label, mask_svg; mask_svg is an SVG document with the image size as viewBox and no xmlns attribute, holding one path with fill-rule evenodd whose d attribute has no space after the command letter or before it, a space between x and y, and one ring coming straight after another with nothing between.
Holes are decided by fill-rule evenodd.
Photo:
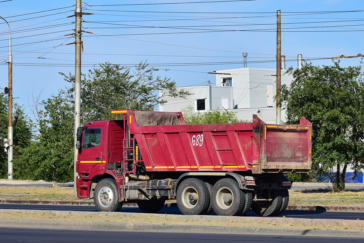
<instances>
[{"instance_id":1,"label":"tall pole carrying many wires, just behind the truck's cab front","mask_svg":"<svg viewBox=\"0 0 364 243\"><path fill-rule=\"evenodd\" d=\"M75 157L74 157L74 182L73 182L73 193L77 196L76 188L76 161L78 155L78 149L76 148L77 143L77 128L81 126L81 17L82 17L82 7L81 0L76 0L76 28L75 28Z\"/></svg>"}]
</instances>

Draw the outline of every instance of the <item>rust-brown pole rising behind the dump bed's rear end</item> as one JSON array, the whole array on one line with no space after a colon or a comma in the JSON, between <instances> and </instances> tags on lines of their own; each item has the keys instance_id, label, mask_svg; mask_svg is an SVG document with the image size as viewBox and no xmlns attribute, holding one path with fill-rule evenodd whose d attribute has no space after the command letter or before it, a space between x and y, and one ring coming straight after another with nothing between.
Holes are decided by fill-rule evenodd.
<instances>
[{"instance_id":1,"label":"rust-brown pole rising behind the dump bed's rear end","mask_svg":"<svg viewBox=\"0 0 364 243\"><path fill-rule=\"evenodd\" d=\"M281 106L278 105L281 89L281 11L277 10L277 88L276 122L281 124Z\"/></svg>"}]
</instances>

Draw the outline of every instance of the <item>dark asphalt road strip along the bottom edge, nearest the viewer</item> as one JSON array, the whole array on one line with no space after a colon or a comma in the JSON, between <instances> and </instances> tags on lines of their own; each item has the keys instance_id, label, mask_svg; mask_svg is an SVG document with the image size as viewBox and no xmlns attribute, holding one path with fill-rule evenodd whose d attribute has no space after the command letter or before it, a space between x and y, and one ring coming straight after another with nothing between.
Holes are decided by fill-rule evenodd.
<instances>
[{"instance_id":1,"label":"dark asphalt road strip along the bottom edge, nearest the viewer","mask_svg":"<svg viewBox=\"0 0 364 243\"><path fill-rule=\"evenodd\" d=\"M324 237L308 235L258 235L258 234L206 234L170 233L150 231L107 231L107 230L57 230L31 228L0 228L0 242L40 242L40 243L362 243L364 238Z\"/></svg>"}]
</instances>

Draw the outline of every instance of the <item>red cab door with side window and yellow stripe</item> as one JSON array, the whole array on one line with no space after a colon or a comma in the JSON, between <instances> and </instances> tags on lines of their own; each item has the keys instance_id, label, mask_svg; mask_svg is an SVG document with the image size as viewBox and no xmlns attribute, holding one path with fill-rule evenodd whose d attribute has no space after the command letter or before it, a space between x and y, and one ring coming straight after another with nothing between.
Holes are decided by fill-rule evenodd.
<instances>
[{"instance_id":1,"label":"red cab door with side window and yellow stripe","mask_svg":"<svg viewBox=\"0 0 364 243\"><path fill-rule=\"evenodd\" d=\"M103 155L103 141L105 134L103 128L103 126L88 126L87 129L83 130L82 148L79 154L79 173L88 174L95 165L105 167L106 159Z\"/></svg>"}]
</instances>

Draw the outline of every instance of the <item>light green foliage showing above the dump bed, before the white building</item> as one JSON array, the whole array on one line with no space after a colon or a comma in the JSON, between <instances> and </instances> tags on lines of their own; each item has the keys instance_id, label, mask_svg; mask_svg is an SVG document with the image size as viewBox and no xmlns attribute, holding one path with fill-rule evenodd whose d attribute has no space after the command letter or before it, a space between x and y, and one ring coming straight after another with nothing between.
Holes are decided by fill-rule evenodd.
<instances>
[{"instance_id":1,"label":"light green foliage showing above the dump bed, before the white building","mask_svg":"<svg viewBox=\"0 0 364 243\"><path fill-rule=\"evenodd\" d=\"M207 112L195 112L191 105L182 110L186 124L220 124L248 122L236 117L236 113L224 110L212 110Z\"/></svg>"}]
</instances>

